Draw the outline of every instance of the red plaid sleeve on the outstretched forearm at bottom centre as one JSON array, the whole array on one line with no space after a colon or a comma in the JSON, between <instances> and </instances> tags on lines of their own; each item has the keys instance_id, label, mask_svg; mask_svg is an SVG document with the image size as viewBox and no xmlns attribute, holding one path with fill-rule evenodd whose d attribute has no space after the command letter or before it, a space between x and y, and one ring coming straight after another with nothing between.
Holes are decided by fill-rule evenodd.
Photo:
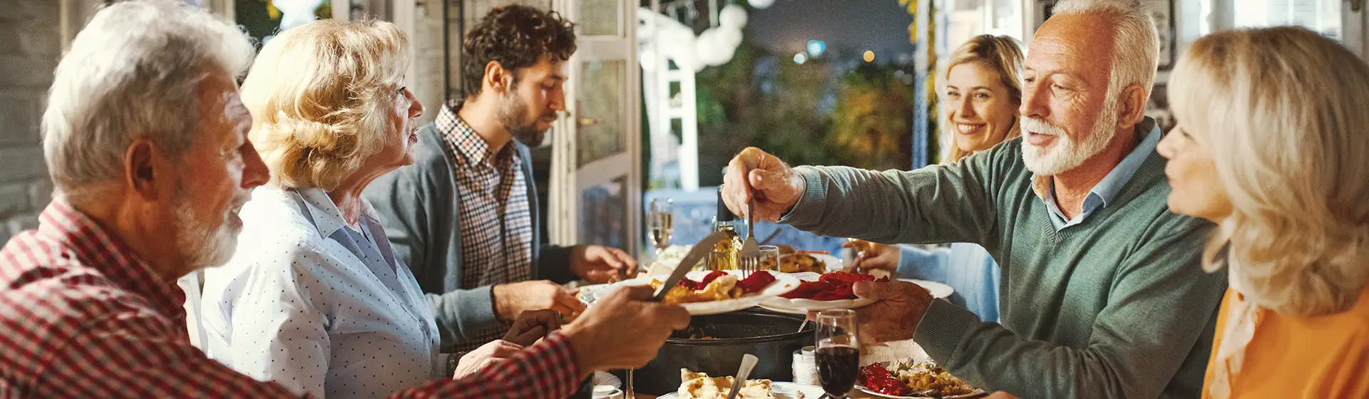
<instances>
[{"instance_id":1,"label":"red plaid sleeve on the outstretched forearm at bottom centre","mask_svg":"<svg viewBox=\"0 0 1369 399\"><path fill-rule=\"evenodd\" d=\"M571 342L553 332L541 343L475 374L428 383L390 398L565 398L575 394L579 381Z\"/></svg>"}]
</instances>

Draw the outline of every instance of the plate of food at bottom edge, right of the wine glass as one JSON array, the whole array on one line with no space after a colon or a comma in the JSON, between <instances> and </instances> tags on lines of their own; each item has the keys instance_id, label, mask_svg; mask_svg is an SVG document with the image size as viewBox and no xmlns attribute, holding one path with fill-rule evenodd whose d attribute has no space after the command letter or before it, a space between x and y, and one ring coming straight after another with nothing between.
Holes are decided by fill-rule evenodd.
<instances>
[{"instance_id":1,"label":"plate of food at bottom edge, right of the wine glass","mask_svg":"<svg viewBox=\"0 0 1369 399\"><path fill-rule=\"evenodd\" d=\"M899 359L860 368L856 389L880 398L977 398L984 389L971 387L931 359Z\"/></svg>"}]
</instances>

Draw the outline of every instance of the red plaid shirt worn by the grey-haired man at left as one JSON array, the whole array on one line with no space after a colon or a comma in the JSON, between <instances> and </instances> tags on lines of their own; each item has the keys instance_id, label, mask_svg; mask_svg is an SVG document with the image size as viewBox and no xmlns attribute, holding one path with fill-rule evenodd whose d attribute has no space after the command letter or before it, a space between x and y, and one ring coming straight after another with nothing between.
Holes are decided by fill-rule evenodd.
<instances>
[{"instance_id":1,"label":"red plaid shirt worn by the grey-haired man at left","mask_svg":"<svg viewBox=\"0 0 1369 399\"><path fill-rule=\"evenodd\" d=\"M296 398L190 346L185 301L118 236L53 201L0 250L0 398ZM553 333L507 362L392 398L564 398L579 370Z\"/></svg>"}]
</instances>

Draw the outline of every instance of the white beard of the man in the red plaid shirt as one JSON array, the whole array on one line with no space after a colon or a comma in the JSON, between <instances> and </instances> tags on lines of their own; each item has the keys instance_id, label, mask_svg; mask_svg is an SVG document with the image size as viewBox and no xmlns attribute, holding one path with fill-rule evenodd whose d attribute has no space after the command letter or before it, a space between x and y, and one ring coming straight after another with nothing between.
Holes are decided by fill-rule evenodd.
<instances>
[{"instance_id":1,"label":"white beard of the man in the red plaid shirt","mask_svg":"<svg viewBox=\"0 0 1369 399\"><path fill-rule=\"evenodd\" d=\"M246 200L240 197L241 201L234 201L234 206L223 212L223 221L211 230L194 221L190 200L185 195L177 197L175 228L179 230L177 247L185 251L186 266L203 269L227 264L238 246L238 232L241 232L241 227L229 224L229 219L242 209Z\"/></svg>"}]
</instances>

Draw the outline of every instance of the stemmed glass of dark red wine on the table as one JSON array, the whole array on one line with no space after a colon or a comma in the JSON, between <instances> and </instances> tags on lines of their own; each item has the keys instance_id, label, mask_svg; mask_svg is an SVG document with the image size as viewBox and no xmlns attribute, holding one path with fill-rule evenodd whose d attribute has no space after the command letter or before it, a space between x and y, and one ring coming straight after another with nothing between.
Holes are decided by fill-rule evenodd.
<instances>
[{"instance_id":1,"label":"stemmed glass of dark red wine on the table","mask_svg":"<svg viewBox=\"0 0 1369 399\"><path fill-rule=\"evenodd\" d=\"M830 309L817 313L817 380L826 398L846 398L860 374L860 342L856 312Z\"/></svg>"}]
</instances>

